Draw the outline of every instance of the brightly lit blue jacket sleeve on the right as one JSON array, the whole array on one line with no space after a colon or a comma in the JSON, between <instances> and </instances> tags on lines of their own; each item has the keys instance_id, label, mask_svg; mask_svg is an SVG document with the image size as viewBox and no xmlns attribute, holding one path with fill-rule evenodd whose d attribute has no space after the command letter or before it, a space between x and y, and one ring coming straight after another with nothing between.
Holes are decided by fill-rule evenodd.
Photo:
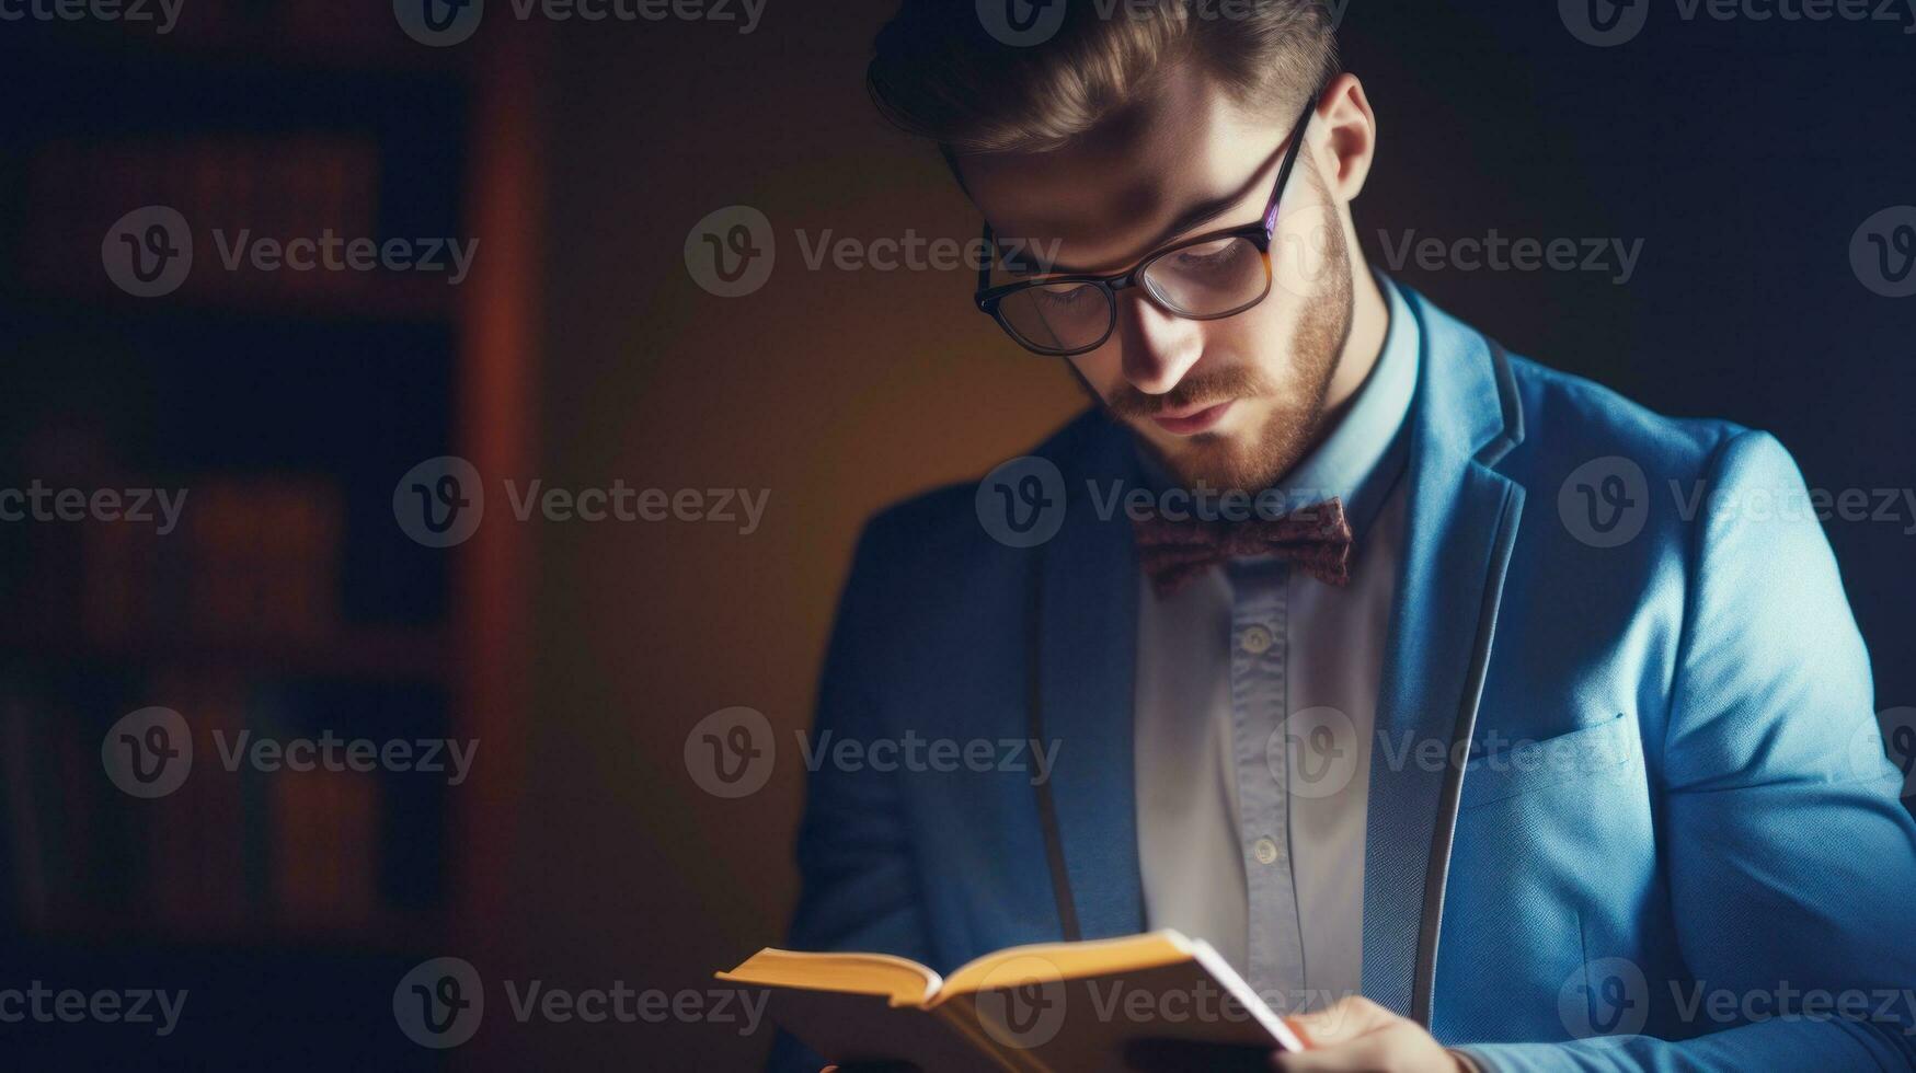
<instances>
[{"instance_id":1,"label":"brightly lit blue jacket sleeve on the right","mask_svg":"<svg viewBox=\"0 0 1916 1073\"><path fill-rule=\"evenodd\" d=\"M1916 824L1836 559L1768 435L1726 441L1703 491L1652 772L1676 941L1701 993L1648 998L1688 1002L1694 1039L1462 1048L1485 1069L1916 1067ZM1784 1017L1768 1006L1786 989L1859 998ZM1734 1012L1713 1014L1715 994Z\"/></svg>"}]
</instances>

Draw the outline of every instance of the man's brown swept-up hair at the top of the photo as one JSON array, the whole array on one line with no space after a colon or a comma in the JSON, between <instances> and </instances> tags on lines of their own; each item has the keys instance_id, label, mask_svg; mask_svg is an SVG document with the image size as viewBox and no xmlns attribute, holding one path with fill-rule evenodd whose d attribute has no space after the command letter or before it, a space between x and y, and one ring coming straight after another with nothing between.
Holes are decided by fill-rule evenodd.
<instances>
[{"instance_id":1,"label":"man's brown swept-up hair at the top of the photo","mask_svg":"<svg viewBox=\"0 0 1916 1073\"><path fill-rule=\"evenodd\" d=\"M1236 103L1276 115L1337 73L1322 0L1019 2L1061 4L1063 21L1021 46L992 36L975 0L902 0L866 69L878 109L947 155L1044 151L1150 96L1186 57Z\"/></svg>"}]
</instances>

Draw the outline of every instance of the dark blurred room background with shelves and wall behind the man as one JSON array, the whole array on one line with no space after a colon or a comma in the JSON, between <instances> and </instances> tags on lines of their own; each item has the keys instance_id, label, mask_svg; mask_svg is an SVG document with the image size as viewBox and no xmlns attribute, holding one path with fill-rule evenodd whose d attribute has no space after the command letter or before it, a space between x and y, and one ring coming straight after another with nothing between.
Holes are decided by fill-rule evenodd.
<instances>
[{"instance_id":1,"label":"dark blurred room background with shelves and wall behind the man","mask_svg":"<svg viewBox=\"0 0 1916 1073\"><path fill-rule=\"evenodd\" d=\"M705 989L776 943L803 768L782 759L764 789L717 799L688 774L688 730L749 705L789 745L860 521L1021 454L1081 404L1061 370L971 310L966 272L803 264L795 228L977 230L937 155L866 102L889 6L770 0L741 36L517 21L494 0L473 40L445 50L368 2L186 0L163 40L0 23L13 86L0 111L0 485L282 489L318 504L303 517L326 535L333 579L318 625L222 630L188 602L102 636L86 596L103 569L88 550L98 525L0 527L0 987L192 989L172 1039L0 1025L0 1060L759 1060L768 1027L515 1023L498 981ZM1385 245L1408 230L1642 240L1627 285L1414 263L1397 276L1516 353L1667 414L1772 431L1811 487L1916 485L1916 299L1872 293L1849 264L1864 218L1916 203L1916 36L1903 25L1686 23L1659 0L1634 40L1594 48L1552 4L1355 0L1341 31L1381 132L1357 207L1374 264L1391 268ZM178 174L194 165L153 146L192 159L209 142L314 134L372 146L376 236L479 238L473 278L450 293L387 278L324 293L190 284L163 299L105 285L98 243L121 211L205 194ZM50 184L50 146L92 163ZM109 194L67 197L80 180ZM299 207L297 184L268 186L215 190L213 213L264 228L247 213ZM741 299L699 289L684 261L694 224L726 205L761 209L780 240L770 282ZM471 460L489 494L500 477L623 479L766 489L770 508L738 535L521 525L489 500L479 535L441 552L410 542L389 506L400 473L435 454ZM1916 703L1912 525L1826 523L1880 709ZM289 533L226 536L257 550ZM211 556L192 569L238 567ZM132 577L121 582L138 588ZM307 713L295 724L475 738L475 776L422 788L387 774L331 797L261 780L201 803L211 812L105 788L98 740L121 715L251 720L259 697L293 697ZM195 768L194 786L217 778ZM328 810L362 799L370 826ZM320 853L301 837L328 833L372 845L354 851L370 893L295 912L274 876ZM182 910L182 853L234 885L197 901L188 887ZM469 960L489 987L479 1035L445 1056L408 1042L391 1010L399 977L429 956Z\"/></svg>"}]
</instances>

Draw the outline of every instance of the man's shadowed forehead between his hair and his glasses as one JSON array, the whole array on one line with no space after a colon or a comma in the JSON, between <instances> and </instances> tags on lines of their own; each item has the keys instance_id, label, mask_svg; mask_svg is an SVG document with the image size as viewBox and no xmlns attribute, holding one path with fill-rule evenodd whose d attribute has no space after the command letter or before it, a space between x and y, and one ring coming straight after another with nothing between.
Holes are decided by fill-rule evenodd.
<instances>
[{"instance_id":1,"label":"man's shadowed forehead between his hair and his glasses","mask_svg":"<svg viewBox=\"0 0 1916 1073\"><path fill-rule=\"evenodd\" d=\"M1071 144L1042 153L960 157L971 199L996 234L1058 241L1079 268L1123 268L1192 207L1253 203L1209 226L1249 222L1268 190L1245 188L1284 136L1284 121L1245 115L1192 65ZM1242 197L1234 197L1242 195Z\"/></svg>"}]
</instances>

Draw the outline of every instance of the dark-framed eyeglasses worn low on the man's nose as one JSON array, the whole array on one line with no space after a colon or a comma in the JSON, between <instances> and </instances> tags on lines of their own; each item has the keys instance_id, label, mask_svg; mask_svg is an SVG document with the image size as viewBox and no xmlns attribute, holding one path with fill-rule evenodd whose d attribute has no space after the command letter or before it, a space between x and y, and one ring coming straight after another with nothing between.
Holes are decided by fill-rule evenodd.
<instances>
[{"instance_id":1,"label":"dark-framed eyeglasses worn low on the man's nose","mask_svg":"<svg viewBox=\"0 0 1916 1073\"><path fill-rule=\"evenodd\" d=\"M989 312L1027 351L1069 358L1104 347L1117 328L1117 291L1127 287L1142 285L1153 303L1188 320L1222 320L1265 301L1270 295L1270 238L1278 230L1278 199L1305 144L1305 123L1311 121L1316 98L1318 94L1311 94L1286 138L1289 149L1259 222L1180 240L1111 276L1069 272L992 287L987 261L977 272L977 308ZM985 249L996 249L989 222Z\"/></svg>"}]
</instances>

